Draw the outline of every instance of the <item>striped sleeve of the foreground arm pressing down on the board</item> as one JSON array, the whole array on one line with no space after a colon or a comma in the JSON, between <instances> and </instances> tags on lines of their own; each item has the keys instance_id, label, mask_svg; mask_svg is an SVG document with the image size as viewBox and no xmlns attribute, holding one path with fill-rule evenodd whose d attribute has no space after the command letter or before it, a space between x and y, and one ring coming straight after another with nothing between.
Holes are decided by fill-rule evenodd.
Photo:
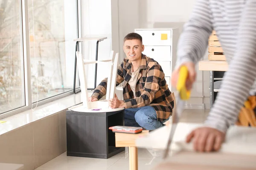
<instances>
[{"instance_id":1,"label":"striped sleeve of the foreground arm pressing down on the board","mask_svg":"<svg viewBox=\"0 0 256 170\"><path fill-rule=\"evenodd\" d=\"M205 124L225 132L239 111L256 79L256 1L245 1L238 30L235 56L224 75L221 91Z\"/></svg>"}]
</instances>

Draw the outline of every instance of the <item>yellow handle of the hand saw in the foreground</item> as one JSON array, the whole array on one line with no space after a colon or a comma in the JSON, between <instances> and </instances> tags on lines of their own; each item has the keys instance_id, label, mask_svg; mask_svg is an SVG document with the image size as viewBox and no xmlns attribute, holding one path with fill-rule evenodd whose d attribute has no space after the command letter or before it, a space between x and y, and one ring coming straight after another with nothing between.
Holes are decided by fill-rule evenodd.
<instances>
[{"instance_id":1,"label":"yellow handle of the hand saw in the foreground","mask_svg":"<svg viewBox=\"0 0 256 170\"><path fill-rule=\"evenodd\" d=\"M189 71L185 65L180 67L179 77L177 81L177 91L180 94L180 99L188 100L190 98L191 91L186 89L186 79L189 75Z\"/></svg>"}]
</instances>

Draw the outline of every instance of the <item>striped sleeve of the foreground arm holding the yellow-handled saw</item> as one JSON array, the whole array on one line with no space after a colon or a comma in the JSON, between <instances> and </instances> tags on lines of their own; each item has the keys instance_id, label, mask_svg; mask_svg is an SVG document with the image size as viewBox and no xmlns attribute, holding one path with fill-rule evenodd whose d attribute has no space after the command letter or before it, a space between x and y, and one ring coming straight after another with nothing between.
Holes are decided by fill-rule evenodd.
<instances>
[{"instance_id":1,"label":"striped sleeve of the foreground arm holding the yellow-handled saw","mask_svg":"<svg viewBox=\"0 0 256 170\"><path fill-rule=\"evenodd\" d=\"M183 26L178 42L176 68L184 62L196 64L206 52L213 29L208 3L208 0L197 0L189 21Z\"/></svg>"}]
</instances>

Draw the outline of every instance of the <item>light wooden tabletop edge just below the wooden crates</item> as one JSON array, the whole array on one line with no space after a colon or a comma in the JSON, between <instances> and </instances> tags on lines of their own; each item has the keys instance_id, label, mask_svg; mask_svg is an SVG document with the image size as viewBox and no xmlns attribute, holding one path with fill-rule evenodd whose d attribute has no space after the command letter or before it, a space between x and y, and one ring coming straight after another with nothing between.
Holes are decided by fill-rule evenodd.
<instances>
[{"instance_id":1,"label":"light wooden tabletop edge just below the wooden crates","mask_svg":"<svg viewBox=\"0 0 256 170\"><path fill-rule=\"evenodd\" d=\"M227 71L227 61L203 60L199 62L199 70L202 71Z\"/></svg>"}]
</instances>

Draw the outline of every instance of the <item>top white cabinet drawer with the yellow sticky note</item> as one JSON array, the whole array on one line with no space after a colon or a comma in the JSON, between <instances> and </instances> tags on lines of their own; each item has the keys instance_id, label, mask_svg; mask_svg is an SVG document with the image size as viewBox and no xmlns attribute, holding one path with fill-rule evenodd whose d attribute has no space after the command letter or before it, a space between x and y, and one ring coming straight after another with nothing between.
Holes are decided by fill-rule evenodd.
<instances>
[{"instance_id":1,"label":"top white cabinet drawer with the yellow sticky note","mask_svg":"<svg viewBox=\"0 0 256 170\"><path fill-rule=\"evenodd\" d=\"M171 30L135 30L135 32L141 35L144 45L171 45ZM166 40L162 40L166 38L162 34L167 34Z\"/></svg>"}]
</instances>

